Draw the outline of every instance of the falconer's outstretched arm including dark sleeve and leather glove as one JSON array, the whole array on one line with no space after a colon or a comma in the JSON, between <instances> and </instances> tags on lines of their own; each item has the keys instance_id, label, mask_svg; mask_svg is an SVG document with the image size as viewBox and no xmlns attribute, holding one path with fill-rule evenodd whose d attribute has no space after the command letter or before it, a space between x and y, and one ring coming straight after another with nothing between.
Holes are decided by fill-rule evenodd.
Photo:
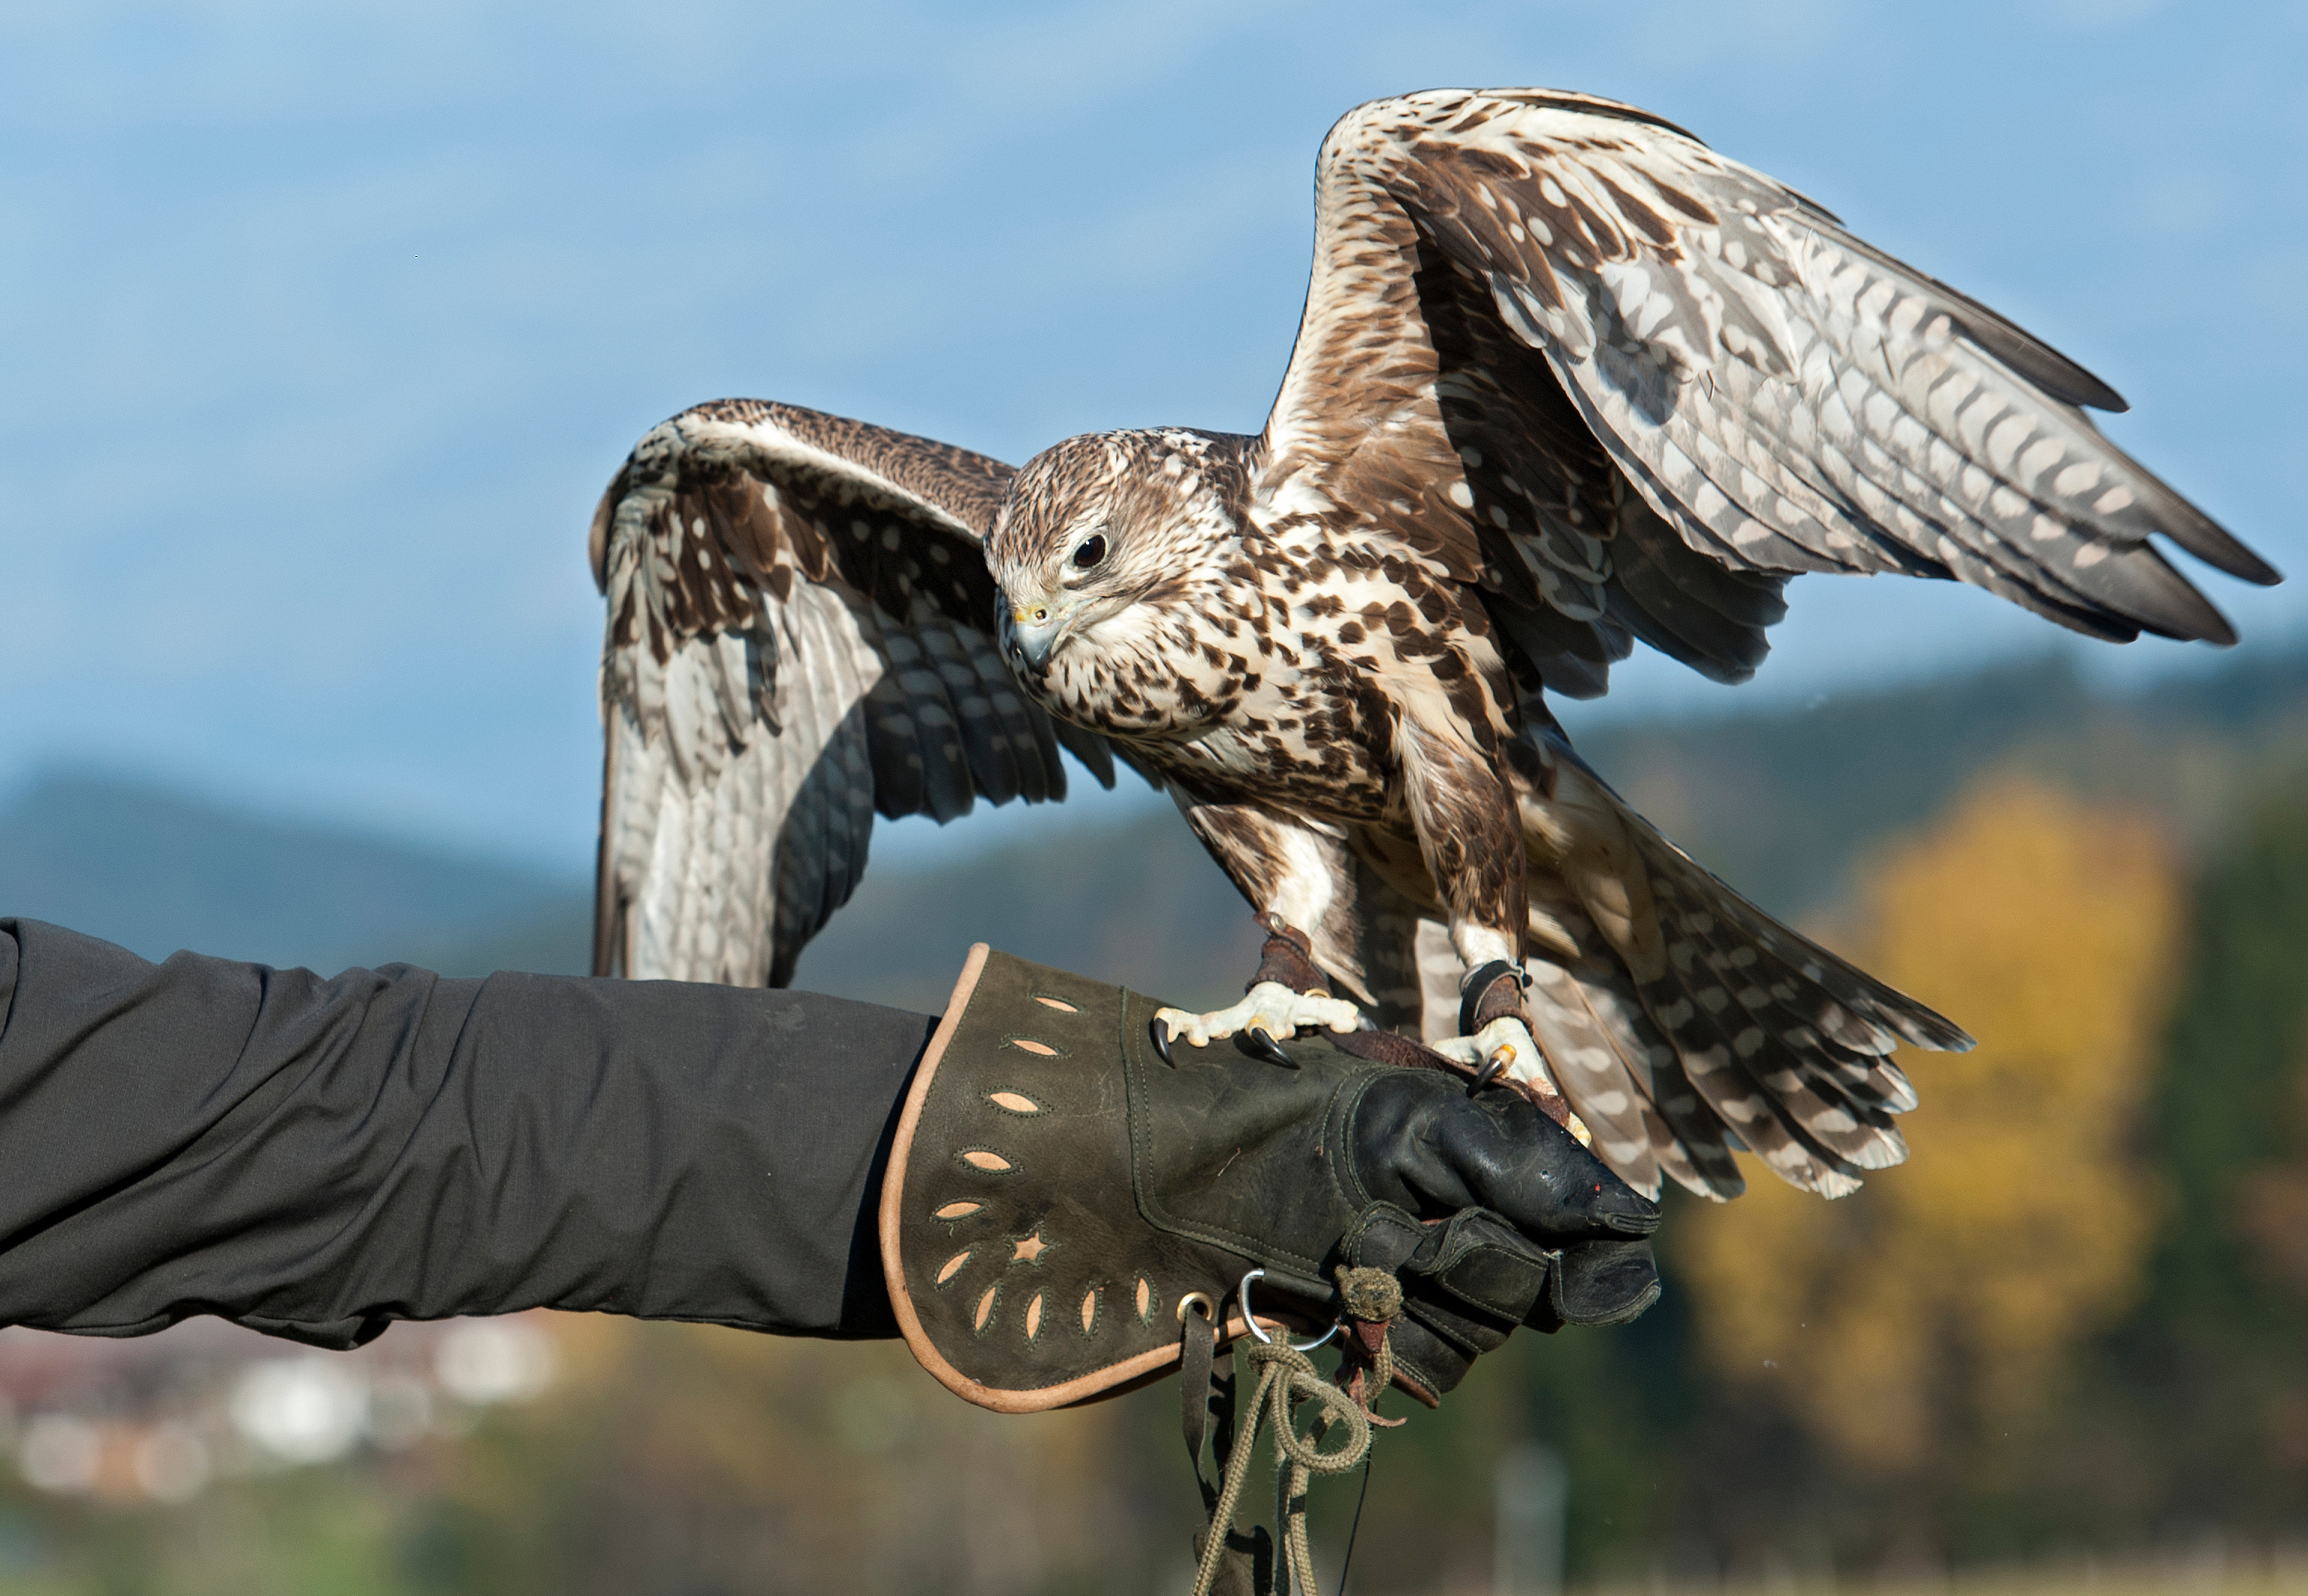
<instances>
[{"instance_id":1,"label":"falconer's outstretched arm including dark sleeve and leather glove","mask_svg":"<svg viewBox=\"0 0 2308 1596\"><path fill-rule=\"evenodd\" d=\"M1320 1038L1288 1070L1159 1059L1152 1012L986 948L932 1026L674 980L148 964L0 920L0 1324L902 1333L1020 1411L1175 1365L1196 1301L1207 1349L1249 1271L1316 1324L1336 1268L1394 1275L1373 1333L1424 1400L1516 1324L1657 1294L1657 1209L1519 1093Z\"/></svg>"}]
</instances>

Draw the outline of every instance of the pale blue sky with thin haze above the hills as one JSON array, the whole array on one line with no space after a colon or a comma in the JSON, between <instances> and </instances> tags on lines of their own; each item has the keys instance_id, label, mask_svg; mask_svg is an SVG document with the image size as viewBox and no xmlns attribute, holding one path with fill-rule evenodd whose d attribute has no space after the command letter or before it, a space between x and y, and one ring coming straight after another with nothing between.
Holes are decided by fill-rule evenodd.
<instances>
[{"instance_id":1,"label":"pale blue sky with thin haze above the hills","mask_svg":"<svg viewBox=\"0 0 2308 1596\"><path fill-rule=\"evenodd\" d=\"M579 872L584 526L632 438L720 394L1013 461L1251 431L1325 127L1438 83L1632 99L1793 182L2303 570L2303 81L2301 7L2156 0L12 5L0 784L99 761ZM2206 586L2246 648L2308 632L2308 584ZM1809 579L1745 694L2050 637ZM1613 706L1726 701L1653 662Z\"/></svg>"}]
</instances>

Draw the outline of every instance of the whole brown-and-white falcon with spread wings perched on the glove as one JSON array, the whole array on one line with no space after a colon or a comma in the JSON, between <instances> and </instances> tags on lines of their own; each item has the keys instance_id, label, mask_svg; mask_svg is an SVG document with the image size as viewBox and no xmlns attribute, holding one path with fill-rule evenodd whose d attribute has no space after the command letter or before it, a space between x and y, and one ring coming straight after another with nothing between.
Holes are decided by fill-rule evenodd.
<instances>
[{"instance_id":1,"label":"whole brown-and-white falcon with spread wings perched on the glove","mask_svg":"<svg viewBox=\"0 0 2308 1596\"><path fill-rule=\"evenodd\" d=\"M595 971L782 985L875 814L1170 791L1267 923L1156 1042L1431 1040L1629 1185L1828 1197L1899 1162L1923 1003L1710 876L1546 694L1636 641L1754 673L1803 572L1969 581L2232 643L2165 537L2278 574L2103 438L2096 376L1655 115L1556 90L1348 113L1258 436L999 461L782 404L653 429L607 595Z\"/></svg>"}]
</instances>

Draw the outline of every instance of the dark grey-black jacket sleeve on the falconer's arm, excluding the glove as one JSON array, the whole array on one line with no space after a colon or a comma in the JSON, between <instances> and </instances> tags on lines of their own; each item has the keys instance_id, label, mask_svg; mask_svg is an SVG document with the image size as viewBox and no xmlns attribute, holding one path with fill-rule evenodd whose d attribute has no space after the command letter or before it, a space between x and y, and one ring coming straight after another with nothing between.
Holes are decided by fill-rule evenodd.
<instances>
[{"instance_id":1,"label":"dark grey-black jacket sleeve on the falconer's arm, excluding the glove","mask_svg":"<svg viewBox=\"0 0 2308 1596\"><path fill-rule=\"evenodd\" d=\"M321 1347L575 1308L896 1335L875 1199L930 1029L685 983L166 964L0 918L0 1324Z\"/></svg>"}]
</instances>

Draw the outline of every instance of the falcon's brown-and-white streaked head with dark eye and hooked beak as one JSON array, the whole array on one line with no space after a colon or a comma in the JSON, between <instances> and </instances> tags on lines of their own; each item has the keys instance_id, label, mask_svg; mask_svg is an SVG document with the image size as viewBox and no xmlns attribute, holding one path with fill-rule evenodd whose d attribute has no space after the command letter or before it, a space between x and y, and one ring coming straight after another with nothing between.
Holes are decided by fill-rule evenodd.
<instances>
[{"instance_id":1,"label":"falcon's brown-and-white streaked head with dark eye and hooked beak","mask_svg":"<svg viewBox=\"0 0 2308 1596\"><path fill-rule=\"evenodd\" d=\"M1223 445L1179 429L1087 434L1011 482L986 563L1002 653L1036 699L1066 713L1096 678L1152 655L1166 607L1235 547Z\"/></svg>"}]
</instances>

